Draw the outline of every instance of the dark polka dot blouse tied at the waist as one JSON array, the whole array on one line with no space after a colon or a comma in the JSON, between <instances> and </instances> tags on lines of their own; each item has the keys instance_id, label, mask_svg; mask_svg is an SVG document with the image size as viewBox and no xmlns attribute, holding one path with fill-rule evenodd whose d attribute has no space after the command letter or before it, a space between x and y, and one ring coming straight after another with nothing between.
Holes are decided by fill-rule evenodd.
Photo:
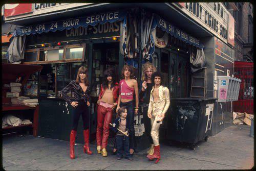
<instances>
[{"instance_id":1,"label":"dark polka dot blouse tied at the waist","mask_svg":"<svg viewBox=\"0 0 256 171\"><path fill-rule=\"evenodd\" d=\"M90 100L90 95L91 95L91 86L90 86L90 84L88 85L88 87L86 89L86 92L83 92L82 87L76 81L71 81L65 88L63 88L63 90L61 91L62 96L64 97L64 99L66 100L66 102L69 105L71 105L71 103L74 101L67 94L70 90L73 90L73 92L74 92L75 97L73 97L73 99L75 101L83 99L86 102L87 101L91 102L91 100Z\"/></svg>"}]
</instances>

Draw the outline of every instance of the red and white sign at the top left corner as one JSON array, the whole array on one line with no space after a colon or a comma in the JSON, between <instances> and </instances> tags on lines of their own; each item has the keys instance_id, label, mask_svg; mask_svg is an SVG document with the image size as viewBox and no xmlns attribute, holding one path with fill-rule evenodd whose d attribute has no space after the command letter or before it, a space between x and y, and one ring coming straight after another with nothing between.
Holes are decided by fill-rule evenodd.
<instances>
[{"instance_id":1,"label":"red and white sign at the top left corner","mask_svg":"<svg viewBox=\"0 0 256 171\"><path fill-rule=\"evenodd\" d=\"M9 17L31 12L33 12L32 4L5 4L4 16Z\"/></svg>"}]
</instances>

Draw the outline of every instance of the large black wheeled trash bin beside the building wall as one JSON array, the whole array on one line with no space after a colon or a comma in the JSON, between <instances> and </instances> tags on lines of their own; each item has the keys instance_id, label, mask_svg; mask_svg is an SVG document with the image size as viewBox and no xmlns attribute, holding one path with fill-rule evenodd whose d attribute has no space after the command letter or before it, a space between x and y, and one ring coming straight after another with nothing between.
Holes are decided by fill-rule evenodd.
<instances>
[{"instance_id":1,"label":"large black wheeled trash bin beside the building wall","mask_svg":"<svg viewBox=\"0 0 256 171\"><path fill-rule=\"evenodd\" d=\"M167 140L195 144L207 141L212 123L213 107L217 99L171 99L167 121ZM208 109L207 109L208 108Z\"/></svg>"}]
</instances>

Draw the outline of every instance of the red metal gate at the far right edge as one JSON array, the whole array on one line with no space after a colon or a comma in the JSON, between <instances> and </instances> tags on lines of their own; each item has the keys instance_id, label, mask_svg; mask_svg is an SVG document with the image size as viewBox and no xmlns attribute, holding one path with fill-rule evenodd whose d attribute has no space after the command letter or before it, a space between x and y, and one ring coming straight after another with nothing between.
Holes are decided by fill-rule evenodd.
<instances>
[{"instance_id":1,"label":"red metal gate at the far right edge","mask_svg":"<svg viewBox=\"0 0 256 171\"><path fill-rule=\"evenodd\" d=\"M234 62L234 77L242 80L239 90L238 101L233 102L234 112L253 111L253 62Z\"/></svg>"}]
</instances>

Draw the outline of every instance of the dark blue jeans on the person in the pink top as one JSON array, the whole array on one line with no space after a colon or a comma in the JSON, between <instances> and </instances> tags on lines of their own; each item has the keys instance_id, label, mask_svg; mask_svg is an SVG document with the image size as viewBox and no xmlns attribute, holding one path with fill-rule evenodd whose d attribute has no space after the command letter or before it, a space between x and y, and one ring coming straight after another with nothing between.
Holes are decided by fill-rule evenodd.
<instances>
[{"instance_id":1,"label":"dark blue jeans on the person in the pink top","mask_svg":"<svg viewBox=\"0 0 256 171\"><path fill-rule=\"evenodd\" d=\"M134 131L134 105L133 101L122 103L120 102L120 107L125 106L127 110L126 116L126 128L130 130L129 132L129 143L130 149L135 149L135 131Z\"/></svg>"}]
</instances>

